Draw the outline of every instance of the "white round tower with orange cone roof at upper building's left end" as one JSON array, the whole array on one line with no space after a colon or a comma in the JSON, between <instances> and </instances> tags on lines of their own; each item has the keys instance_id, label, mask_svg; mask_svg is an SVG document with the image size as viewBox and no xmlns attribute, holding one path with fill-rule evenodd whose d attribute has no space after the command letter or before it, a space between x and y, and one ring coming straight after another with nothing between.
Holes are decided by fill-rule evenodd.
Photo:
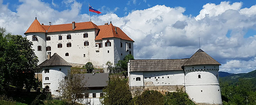
<instances>
[{"instance_id":1,"label":"white round tower with orange cone roof at upper building's left end","mask_svg":"<svg viewBox=\"0 0 256 105\"><path fill-rule=\"evenodd\" d=\"M35 55L38 57L38 64L46 60L46 30L40 25L38 20L35 18L33 23L30 25L28 30L24 33L28 40L33 45L32 49L35 51Z\"/></svg>"}]
</instances>

